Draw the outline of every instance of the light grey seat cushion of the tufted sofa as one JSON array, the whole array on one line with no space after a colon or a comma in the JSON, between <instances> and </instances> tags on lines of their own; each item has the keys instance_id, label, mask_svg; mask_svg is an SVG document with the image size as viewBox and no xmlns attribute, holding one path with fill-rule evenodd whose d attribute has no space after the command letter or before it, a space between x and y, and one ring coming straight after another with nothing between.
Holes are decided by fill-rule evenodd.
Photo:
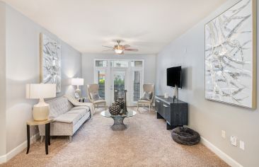
<instances>
[{"instance_id":1,"label":"light grey seat cushion of the tufted sofa","mask_svg":"<svg viewBox=\"0 0 259 167\"><path fill-rule=\"evenodd\" d=\"M73 123L73 125L75 125L76 122L78 122L81 119L81 117L84 117L84 115L86 115L86 113L87 111L85 109L70 110L69 112L54 118L54 121Z\"/></svg>"}]
</instances>

